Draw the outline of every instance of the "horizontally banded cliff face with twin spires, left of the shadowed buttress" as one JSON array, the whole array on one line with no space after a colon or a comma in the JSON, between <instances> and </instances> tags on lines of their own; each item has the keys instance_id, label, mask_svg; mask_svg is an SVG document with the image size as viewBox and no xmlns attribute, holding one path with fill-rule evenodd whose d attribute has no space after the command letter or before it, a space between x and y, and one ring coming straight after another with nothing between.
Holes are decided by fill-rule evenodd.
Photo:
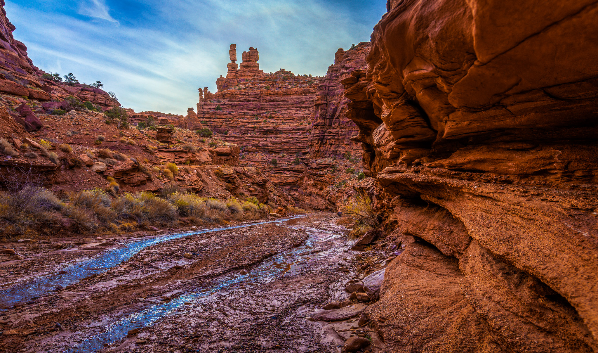
<instances>
[{"instance_id":1,"label":"horizontally banded cliff face with twin spires, left of the shadowed buttress","mask_svg":"<svg viewBox=\"0 0 598 353\"><path fill-rule=\"evenodd\" d=\"M280 69L259 69L255 48L243 52L236 69L231 45L227 77L216 80L218 92L199 90L197 113L188 109L178 123L190 130L209 128L222 141L239 145L243 166L257 166L274 184L295 196L309 162L309 132L319 78ZM215 137L216 137L215 136Z\"/></svg>"}]
</instances>

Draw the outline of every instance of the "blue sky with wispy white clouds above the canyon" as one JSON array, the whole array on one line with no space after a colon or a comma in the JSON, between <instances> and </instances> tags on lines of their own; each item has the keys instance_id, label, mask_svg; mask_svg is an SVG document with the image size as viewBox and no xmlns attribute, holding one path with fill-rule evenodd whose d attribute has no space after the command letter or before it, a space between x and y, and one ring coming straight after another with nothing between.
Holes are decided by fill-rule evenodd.
<instances>
[{"instance_id":1,"label":"blue sky with wispy white clouds above the canyon","mask_svg":"<svg viewBox=\"0 0 598 353\"><path fill-rule=\"evenodd\" d=\"M135 111L187 114L216 90L228 45L260 68L325 75L337 48L370 40L386 0L9 0L14 38L40 69L102 81Z\"/></svg>"}]
</instances>

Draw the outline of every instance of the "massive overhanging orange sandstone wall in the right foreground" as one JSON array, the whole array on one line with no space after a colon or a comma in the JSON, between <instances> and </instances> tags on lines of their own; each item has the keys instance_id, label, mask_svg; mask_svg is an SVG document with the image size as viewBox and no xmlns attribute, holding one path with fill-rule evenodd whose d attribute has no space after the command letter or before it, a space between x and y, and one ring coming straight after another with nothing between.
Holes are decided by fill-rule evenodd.
<instances>
[{"instance_id":1,"label":"massive overhanging orange sandstone wall in the right foreground","mask_svg":"<svg viewBox=\"0 0 598 353\"><path fill-rule=\"evenodd\" d=\"M370 309L390 351L598 351L598 6L388 7L343 84L406 246Z\"/></svg>"}]
</instances>

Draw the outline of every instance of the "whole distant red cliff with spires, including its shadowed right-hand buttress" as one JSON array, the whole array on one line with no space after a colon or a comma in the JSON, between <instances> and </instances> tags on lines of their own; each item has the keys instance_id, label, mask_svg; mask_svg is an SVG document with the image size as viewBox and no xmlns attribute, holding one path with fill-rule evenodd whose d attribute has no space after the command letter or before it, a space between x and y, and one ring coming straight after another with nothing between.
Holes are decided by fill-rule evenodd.
<instances>
[{"instance_id":1,"label":"whole distant red cliff with spires, including its shadowed right-hand buttress","mask_svg":"<svg viewBox=\"0 0 598 353\"><path fill-rule=\"evenodd\" d=\"M284 69L264 73L256 48L243 51L239 65L236 45L231 44L227 75L216 80L218 92L199 90L197 113L189 108L177 124L190 130L208 127L222 141L239 145L242 165L260 167L298 204L307 206L306 193L312 194L319 187L325 190L338 182L330 176L335 163L317 160L344 159L347 151L357 158L361 156L359 144L350 141L358 129L344 117L349 101L342 95L340 81L365 65L366 51L367 43L347 52L339 49L327 76L312 77ZM314 184L305 179L312 170L315 175L328 175L318 188L306 187ZM340 170L346 170L346 166ZM329 202L316 205L332 206Z\"/></svg>"}]
</instances>

